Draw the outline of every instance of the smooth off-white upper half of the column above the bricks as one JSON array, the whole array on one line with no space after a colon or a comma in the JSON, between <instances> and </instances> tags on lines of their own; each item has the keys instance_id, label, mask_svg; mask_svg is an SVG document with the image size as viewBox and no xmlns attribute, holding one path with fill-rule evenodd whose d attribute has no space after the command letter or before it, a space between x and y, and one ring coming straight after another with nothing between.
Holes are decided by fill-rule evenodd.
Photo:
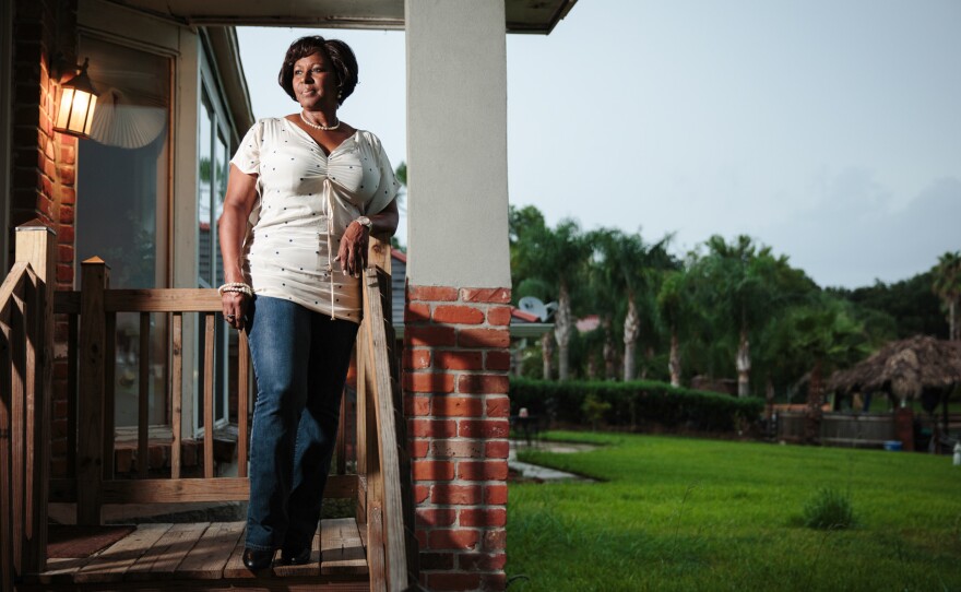
<instances>
[{"instance_id":1,"label":"smooth off-white upper half of the column above the bricks","mask_svg":"<svg viewBox=\"0 0 961 592\"><path fill-rule=\"evenodd\" d=\"M510 287L503 0L406 0L407 281Z\"/></svg>"}]
</instances>

